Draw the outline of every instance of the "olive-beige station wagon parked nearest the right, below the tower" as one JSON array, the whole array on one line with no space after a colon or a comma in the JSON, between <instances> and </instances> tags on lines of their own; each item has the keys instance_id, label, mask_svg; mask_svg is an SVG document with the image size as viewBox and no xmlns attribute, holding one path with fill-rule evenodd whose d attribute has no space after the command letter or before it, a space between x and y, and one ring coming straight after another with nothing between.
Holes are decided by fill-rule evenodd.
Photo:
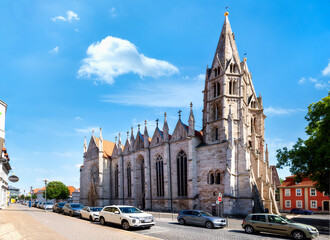
<instances>
[{"instance_id":1,"label":"olive-beige station wagon parked nearest the right, below the tower","mask_svg":"<svg viewBox=\"0 0 330 240\"><path fill-rule=\"evenodd\" d=\"M270 232L293 239L316 238L318 230L310 225L295 223L291 219L268 213L249 214L242 223L246 233Z\"/></svg>"}]
</instances>

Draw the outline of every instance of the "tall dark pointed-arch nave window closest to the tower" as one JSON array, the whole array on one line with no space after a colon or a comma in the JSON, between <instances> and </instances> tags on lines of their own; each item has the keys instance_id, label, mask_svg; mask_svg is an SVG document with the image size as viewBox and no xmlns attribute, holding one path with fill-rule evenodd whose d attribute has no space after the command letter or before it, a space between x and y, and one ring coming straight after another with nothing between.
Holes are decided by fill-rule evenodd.
<instances>
[{"instance_id":1,"label":"tall dark pointed-arch nave window closest to the tower","mask_svg":"<svg viewBox=\"0 0 330 240\"><path fill-rule=\"evenodd\" d=\"M187 196L187 154L181 150L176 158L178 196Z\"/></svg>"}]
</instances>

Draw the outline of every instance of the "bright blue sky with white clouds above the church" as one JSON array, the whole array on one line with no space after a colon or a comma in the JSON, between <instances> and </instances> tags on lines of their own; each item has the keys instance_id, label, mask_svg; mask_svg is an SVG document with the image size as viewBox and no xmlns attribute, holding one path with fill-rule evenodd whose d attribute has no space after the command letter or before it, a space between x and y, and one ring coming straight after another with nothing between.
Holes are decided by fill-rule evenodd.
<instances>
[{"instance_id":1,"label":"bright blue sky with white clouds above the church","mask_svg":"<svg viewBox=\"0 0 330 240\"><path fill-rule=\"evenodd\" d=\"M205 70L225 7L267 115L270 163L306 138L307 107L330 89L330 2L307 0L2 0L0 99L21 190L42 179L79 187L84 137L114 141L147 120L170 131L194 104L202 126ZM290 175L289 169L278 170Z\"/></svg>"}]
</instances>

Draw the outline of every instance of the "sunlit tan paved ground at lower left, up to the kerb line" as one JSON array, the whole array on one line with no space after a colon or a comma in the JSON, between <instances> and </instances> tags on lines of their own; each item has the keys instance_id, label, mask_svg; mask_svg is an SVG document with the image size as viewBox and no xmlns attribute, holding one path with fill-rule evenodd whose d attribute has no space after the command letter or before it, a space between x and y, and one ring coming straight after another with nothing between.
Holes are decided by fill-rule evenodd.
<instances>
[{"instance_id":1,"label":"sunlit tan paved ground at lower left, up to the kerb line","mask_svg":"<svg viewBox=\"0 0 330 240\"><path fill-rule=\"evenodd\" d=\"M157 239L22 205L0 210L0 240Z\"/></svg>"}]
</instances>

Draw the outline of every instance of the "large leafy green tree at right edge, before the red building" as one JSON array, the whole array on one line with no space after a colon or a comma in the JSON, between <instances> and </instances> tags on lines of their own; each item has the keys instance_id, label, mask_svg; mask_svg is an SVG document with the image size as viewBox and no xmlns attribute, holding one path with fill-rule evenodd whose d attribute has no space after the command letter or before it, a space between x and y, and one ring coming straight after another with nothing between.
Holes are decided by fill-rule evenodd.
<instances>
[{"instance_id":1,"label":"large leafy green tree at right edge, before the red building","mask_svg":"<svg viewBox=\"0 0 330 240\"><path fill-rule=\"evenodd\" d=\"M330 176L330 92L328 96L308 107L305 117L307 140L298 138L291 150L277 150L276 167L289 166L296 181L309 177L316 182L316 189L329 194Z\"/></svg>"}]
</instances>

